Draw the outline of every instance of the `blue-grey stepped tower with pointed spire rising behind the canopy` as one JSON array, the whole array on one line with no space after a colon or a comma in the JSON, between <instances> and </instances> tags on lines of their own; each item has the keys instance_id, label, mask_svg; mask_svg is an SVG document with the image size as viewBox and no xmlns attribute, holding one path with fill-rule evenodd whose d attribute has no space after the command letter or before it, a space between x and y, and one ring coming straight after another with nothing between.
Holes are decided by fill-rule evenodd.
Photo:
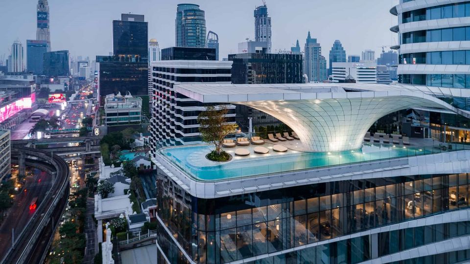
<instances>
[{"instance_id":1,"label":"blue-grey stepped tower with pointed spire rising behind the canopy","mask_svg":"<svg viewBox=\"0 0 470 264\"><path fill-rule=\"evenodd\" d=\"M322 47L317 43L317 39L312 39L308 31L305 42L304 73L307 75L308 82L323 82L328 79L327 61L322 56Z\"/></svg>"}]
</instances>

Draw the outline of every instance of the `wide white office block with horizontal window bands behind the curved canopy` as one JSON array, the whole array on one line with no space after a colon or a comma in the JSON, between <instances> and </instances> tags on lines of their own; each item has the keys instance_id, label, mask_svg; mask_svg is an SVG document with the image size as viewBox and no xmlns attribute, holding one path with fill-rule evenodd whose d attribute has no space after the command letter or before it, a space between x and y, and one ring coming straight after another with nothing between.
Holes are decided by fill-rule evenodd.
<instances>
[{"instance_id":1,"label":"wide white office block with horizontal window bands behind the curved canopy","mask_svg":"<svg viewBox=\"0 0 470 264\"><path fill-rule=\"evenodd\" d=\"M347 83L351 79L355 83L376 84L376 63L333 63L333 83Z\"/></svg>"}]
</instances>

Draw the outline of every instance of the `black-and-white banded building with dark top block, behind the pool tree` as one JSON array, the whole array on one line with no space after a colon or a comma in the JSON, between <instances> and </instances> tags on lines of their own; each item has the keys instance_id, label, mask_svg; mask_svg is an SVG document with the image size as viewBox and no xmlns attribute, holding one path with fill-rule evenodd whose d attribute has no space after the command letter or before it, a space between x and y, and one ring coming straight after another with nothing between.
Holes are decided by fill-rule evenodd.
<instances>
[{"instance_id":1,"label":"black-and-white banded building with dark top block, behind the pool tree","mask_svg":"<svg viewBox=\"0 0 470 264\"><path fill-rule=\"evenodd\" d=\"M200 142L197 116L205 109L205 104L175 91L174 86L183 83L230 84L232 62L215 61L213 48L170 47L162 49L162 60L152 63L151 68L153 118L150 143L155 146L166 139L168 143L178 144ZM235 106L231 105L229 109L231 112L227 117L230 122L235 122Z\"/></svg>"}]
</instances>

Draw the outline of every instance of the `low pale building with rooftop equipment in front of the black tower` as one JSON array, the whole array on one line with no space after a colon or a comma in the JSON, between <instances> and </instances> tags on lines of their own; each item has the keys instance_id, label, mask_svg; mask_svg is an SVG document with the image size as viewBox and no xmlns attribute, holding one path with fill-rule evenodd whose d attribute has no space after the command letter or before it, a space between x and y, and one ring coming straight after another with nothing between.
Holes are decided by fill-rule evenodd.
<instances>
[{"instance_id":1,"label":"low pale building with rooftop equipment in front of the black tower","mask_svg":"<svg viewBox=\"0 0 470 264\"><path fill-rule=\"evenodd\" d=\"M133 97L129 92L122 96L108 94L105 98L105 125L125 125L141 123L142 98Z\"/></svg>"}]
</instances>

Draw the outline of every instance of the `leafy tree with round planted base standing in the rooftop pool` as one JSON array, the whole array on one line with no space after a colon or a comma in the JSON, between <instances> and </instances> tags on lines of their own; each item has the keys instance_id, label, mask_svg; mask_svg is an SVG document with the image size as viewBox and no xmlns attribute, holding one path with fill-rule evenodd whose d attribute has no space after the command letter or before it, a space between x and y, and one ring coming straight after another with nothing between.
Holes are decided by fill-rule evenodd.
<instances>
[{"instance_id":1,"label":"leafy tree with round planted base standing in the rooftop pool","mask_svg":"<svg viewBox=\"0 0 470 264\"><path fill-rule=\"evenodd\" d=\"M199 123L199 132L202 140L214 144L215 150L208 155L208 158L214 161L227 161L230 155L222 151L224 138L235 132L236 124L227 123L226 115L229 112L226 106L208 106L197 117Z\"/></svg>"}]
</instances>

